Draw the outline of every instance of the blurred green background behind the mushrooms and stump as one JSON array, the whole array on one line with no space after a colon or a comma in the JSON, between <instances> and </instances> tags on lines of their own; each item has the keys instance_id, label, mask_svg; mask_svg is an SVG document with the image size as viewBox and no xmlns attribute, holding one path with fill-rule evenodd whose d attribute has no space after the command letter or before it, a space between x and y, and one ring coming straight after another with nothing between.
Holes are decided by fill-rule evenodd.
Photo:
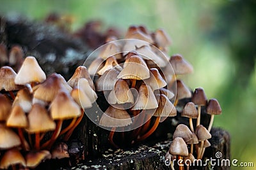
<instances>
[{"instance_id":1,"label":"blurred green background behind the mushrooms and stump","mask_svg":"<svg viewBox=\"0 0 256 170\"><path fill-rule=\"evenodd\" d=\"M0 1L5 16L42 20L52 11L72 15L72 31L89 20L123 32L132 24L165 29L173 42L170 55L180 53L194 66L183 77L186 84L204 87L220 102L223 114L214 126L230 132L232 159L256 167L256 1Z\"/></svg>"}]
</instances>

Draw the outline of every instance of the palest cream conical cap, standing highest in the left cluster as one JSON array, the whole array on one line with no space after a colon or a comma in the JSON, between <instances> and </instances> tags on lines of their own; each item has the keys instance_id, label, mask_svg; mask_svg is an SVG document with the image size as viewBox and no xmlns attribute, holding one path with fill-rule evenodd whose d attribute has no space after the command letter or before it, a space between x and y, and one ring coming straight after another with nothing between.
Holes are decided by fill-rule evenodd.
<instances>
[{"instance_id":1,"label":"palest cream conical cap, standing highest in the left cluster","mask_svg":"<svg viewBox=\"0 0 256 170\"><path fill-rule=\"evenodd\" d=\"M45 79L46 75L35 57L26 57L15 78L15 83L17 85L25 85L31 82L40 83Z\"/></svg>"}]
</instances>

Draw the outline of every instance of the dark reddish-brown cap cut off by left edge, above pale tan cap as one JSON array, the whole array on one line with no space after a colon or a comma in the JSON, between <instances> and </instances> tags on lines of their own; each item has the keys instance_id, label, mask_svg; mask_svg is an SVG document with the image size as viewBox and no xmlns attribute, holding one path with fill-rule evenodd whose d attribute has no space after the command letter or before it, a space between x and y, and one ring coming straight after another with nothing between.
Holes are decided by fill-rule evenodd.
<instances>
[{"instance_id":1,"label":"dark reddish-brown cap cut off by left edge, above pale tan cap","mask_svg":"<svg viewBox=\"0 0 256 170\"><path fill-rule=\"evenodd\" d=\"M0 121L5 121L12 110L11 102L3 94L0 94Z\"/></svg>"}]
</instances>

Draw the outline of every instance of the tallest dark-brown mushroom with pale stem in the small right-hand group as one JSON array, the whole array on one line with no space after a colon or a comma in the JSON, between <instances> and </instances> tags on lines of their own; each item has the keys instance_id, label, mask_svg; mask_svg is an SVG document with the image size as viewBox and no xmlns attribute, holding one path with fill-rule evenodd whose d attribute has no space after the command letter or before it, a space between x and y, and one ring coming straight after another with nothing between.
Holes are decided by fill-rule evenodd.
<instances>
[{"instance_id":1,"label":"tallest dark-brown mushroom with pale stem in the small right-hand group","mask_svg":"<svg viewBox=\"0 0 256 170\"><path fill-rule=\"evenodd\" d=\"M196 126L198 126L200 125L201 106L205 106L207 104L207 97L205 96L204 89L202 89L201 87L196 88L191 101L198 106L198 117L196 121Z\"/></svg>"}]
</instances>

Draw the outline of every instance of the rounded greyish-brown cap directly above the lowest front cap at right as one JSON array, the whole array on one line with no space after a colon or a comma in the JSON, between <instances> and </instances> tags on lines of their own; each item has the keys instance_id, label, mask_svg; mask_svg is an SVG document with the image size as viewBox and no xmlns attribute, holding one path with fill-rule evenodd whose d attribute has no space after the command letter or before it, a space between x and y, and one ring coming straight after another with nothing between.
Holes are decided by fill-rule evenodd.
<instances>
[{"instance_id":1,"label":"rounded greyish-brown cap directly above the lowest front cap at right","mask_svg":"<svg viewBox=\"0 0 256 170\"><path fill-rule=\"evenodd\" d=\"M193 134L187 125L179 124L173 133L173 139L177 137L180 137L184 139L185 142L187 142L193 138Z\"/></svg>"}]
</instances>

